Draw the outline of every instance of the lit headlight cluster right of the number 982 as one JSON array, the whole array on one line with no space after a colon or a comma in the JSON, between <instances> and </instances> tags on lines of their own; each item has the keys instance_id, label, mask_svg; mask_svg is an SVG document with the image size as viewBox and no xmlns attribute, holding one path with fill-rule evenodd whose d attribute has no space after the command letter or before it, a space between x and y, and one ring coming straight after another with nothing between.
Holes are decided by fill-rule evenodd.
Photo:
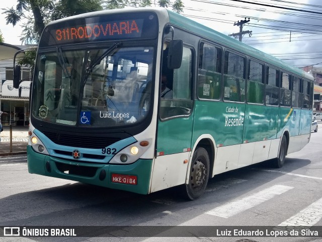
<instances>
[{"instance_id":1,"label":"lit headlight cluster right of the number 982","mask_svg":"<svg viewBox=\"0 0 322 242\"><path fill-rule=\"evenodd\" d=\"M110 160L109 164L128 165L136 162L150 147L150 141L138 141L120 150Z\"/></svg>"}]
</instances>

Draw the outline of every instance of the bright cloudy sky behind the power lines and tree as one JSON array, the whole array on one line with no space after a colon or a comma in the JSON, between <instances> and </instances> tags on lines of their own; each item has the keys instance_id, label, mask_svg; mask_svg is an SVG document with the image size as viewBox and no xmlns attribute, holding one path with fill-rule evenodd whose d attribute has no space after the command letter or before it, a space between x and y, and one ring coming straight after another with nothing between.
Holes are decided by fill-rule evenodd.
<instances>
[{"instance_id":1,"label":"bright cloudy sky behind the power lines and tree","mask_svg":"<svg viewBox=\"0 0 322 242\"><path fill-rule=\"evenodd\" d=\"M238 0L237 0L238 1ZM254 4L233 0L184 0L182 15L229 35L239 32L234 22L250 18L243 31L243 42L288 64L302 67L322 67L322 1L320 0L245 0ZM153 1L152 1L153 2ZM261 6L259 4L275 6ZM16 6L16 1L0 2L0 30L5 43L20 45L22 22L15 27L6 25L3 10ZM280 8L276 8L280 7ZM292 11L283 8L297 9ZM316 13L307 13L310 11ZM321 13L321 14L318 14ZM290 41L291 40L291 41ZM314 58L313 58L314 57Z\"/></svg>"}]
</instances>

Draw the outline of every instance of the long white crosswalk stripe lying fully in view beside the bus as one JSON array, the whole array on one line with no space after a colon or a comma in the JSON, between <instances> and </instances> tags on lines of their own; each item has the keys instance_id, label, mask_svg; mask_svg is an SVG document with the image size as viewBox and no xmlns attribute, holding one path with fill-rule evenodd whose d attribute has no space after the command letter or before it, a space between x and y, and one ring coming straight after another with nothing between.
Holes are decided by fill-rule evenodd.
<instances>
[{"instance_id":1,"label":"long white crosswalk stripe lying fully in view beside the bus","mask_svg":"<svg viewBox=\"0 0 322 242\"><path fill-rule=\"evenodd\" d=\"M206 214L222 218L229 218L233 215L236 215L237 213L243 212L267 200L270 200L276 195L281 195L291 189L293 189L293 187L274 185L248 197L241 198L237 201L233 201L222 206L216 207L206 212Z\"/></svg>"}]
</instances>

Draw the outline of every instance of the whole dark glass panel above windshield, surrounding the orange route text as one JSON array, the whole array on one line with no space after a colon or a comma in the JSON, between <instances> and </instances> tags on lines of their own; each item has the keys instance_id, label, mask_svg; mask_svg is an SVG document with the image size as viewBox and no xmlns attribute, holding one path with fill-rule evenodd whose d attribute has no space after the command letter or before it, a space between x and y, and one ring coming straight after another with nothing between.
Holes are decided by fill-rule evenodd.
<instances>
[{"instance_id":1,"label":"whole dark glass panel above windshield, surrounding the orange route text","mask_svg":"<svg viewBox=\"0 0 322 242\"><path fill-rule=\"evenodd\" d=\"M157 33L157 17L153 13L102 15L50 24L43 32L39 46L151 39L155 38Z\"/></svg>"}]
</instances>

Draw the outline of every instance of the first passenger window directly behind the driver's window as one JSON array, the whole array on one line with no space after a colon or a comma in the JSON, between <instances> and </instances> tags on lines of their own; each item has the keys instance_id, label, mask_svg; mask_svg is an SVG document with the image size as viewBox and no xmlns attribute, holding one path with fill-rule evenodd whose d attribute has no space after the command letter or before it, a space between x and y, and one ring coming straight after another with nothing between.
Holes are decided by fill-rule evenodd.
<instances>
[{"instance_id":1,"label":"first passenger window directly behind the driver's window","mask_svg":"<svg viewBox=\"0 0 322 242\"><path fill-rule=\"evenodd\" d=\"M201 43L199 49L198 97L220 99L222 51L218 47Z\"/></svg>"}]
</instances>

